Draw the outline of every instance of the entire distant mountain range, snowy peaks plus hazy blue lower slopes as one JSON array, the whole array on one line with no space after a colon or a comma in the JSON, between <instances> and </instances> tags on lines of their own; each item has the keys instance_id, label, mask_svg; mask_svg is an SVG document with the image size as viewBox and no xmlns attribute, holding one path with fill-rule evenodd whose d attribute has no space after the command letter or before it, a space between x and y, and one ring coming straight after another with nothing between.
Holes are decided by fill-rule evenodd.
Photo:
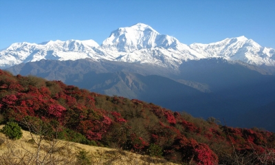
<instances>
[{"instance_id":1,"label":"entire distant mountain range, snowy peaks plus hazy blue lower slopes","mask_svg":"<svg viewBox=\"0 0 275 165\"><path fill-rule=\"evenodd\" d=\"M0 52L0 65L13 74L275 131L274 54L244 36L184 45L137 23L111 32L102 45L92 40L14 43Z\"/></svg>"}]
</instances>

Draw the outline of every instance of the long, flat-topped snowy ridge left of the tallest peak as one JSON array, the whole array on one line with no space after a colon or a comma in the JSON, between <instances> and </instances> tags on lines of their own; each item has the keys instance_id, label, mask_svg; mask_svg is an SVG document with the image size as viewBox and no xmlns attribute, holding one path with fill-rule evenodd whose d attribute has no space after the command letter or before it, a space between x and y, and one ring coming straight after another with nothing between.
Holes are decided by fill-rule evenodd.
<instances>
[{"instance_id":1,"label":"long, flat-topped snowy ridge left of the tallest peak","mask_svg":"<svg viewBox=\"0 0 275 165\"><path fill-rule=\"evenodd\" d=\"M98 47L93 40L48 41L36 43L13 43L0 52L0 68L7 68L30 61L77 60L80 58L97 58L93 48Z\"/></svg>"}]
</instances>

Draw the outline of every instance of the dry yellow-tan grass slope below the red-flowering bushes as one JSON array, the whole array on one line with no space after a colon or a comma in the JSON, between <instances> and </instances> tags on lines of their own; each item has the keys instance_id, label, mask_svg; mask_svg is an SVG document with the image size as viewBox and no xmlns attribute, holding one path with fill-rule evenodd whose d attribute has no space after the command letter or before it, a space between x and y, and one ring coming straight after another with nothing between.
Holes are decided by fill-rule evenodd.
<instances>
[{"instance_id":1,"label":"dry yellow-tan grass slope below the red-flowering bushes","mask_svg":"<svg viewBox=\"0 0 275 165\"><path fill-rule=\"evenodd\" d=\"M0 126L0 129L3 125ZM22 130L23 131L23 130ZM55 146L53 146L55 145ZM51 150L51 151L49 151ZM84 153L80 157L80 153ZM43 140L37 160L38 148L30 132L23 131L20 140L8 140L0 133L0 165L8 164L172 164L165 159L138 155L112 148L88 146L74 142Z\"/></svg>"}]
</instances>

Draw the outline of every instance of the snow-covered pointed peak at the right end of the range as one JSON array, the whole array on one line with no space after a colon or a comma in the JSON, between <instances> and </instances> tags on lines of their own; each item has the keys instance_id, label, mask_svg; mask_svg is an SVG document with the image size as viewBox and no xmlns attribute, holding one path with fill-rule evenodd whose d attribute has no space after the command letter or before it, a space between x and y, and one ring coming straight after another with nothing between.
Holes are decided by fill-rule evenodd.
<instances>
[{"instance_id":1,"label":"snow-covered pointed peak at the right end of the range","mask_svg":"<svg viewBox=\"0 0 275 165\"><path fill-rule=\"evenodd\" d=\"M261 47L261 45L252 39L247 39L245 36L225 39L210 44L193 43L190 47L206 58L221 57L227 60L239 60L253 65L275 65L274 49Z\"/></svg>"}]
</instances>

